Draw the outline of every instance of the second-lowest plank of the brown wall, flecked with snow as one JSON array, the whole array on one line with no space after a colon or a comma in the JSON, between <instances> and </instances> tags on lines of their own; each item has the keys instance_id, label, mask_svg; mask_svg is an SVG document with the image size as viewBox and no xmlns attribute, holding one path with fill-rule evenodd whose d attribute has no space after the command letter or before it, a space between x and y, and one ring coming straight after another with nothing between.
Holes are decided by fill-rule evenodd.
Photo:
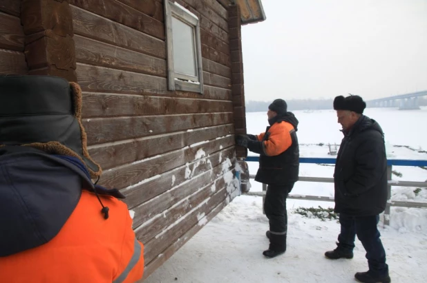
<instances>
[{"instance_id":1,"label":"second-lowest plank of the brown wall, flecked with snow","mask_svg":"<svg viewBox=\"0 0 427 283\"><path fill-rule=\"evenodd\" d=\"M168 227L169 229L164 231L164 233L156 238L153 238L150 242L147 242L144 245L144 261L149 264L151 260L155 259L158 254L162 253L167 247L169 247L173 242L178 240L181 235L189 231L191 227L195 224L199 224L198 218L200 215L205 215L212 211L215 207L220 205L227 198L227 190L222 189L215 193L214 196L211 196L205 205L198 209L194 209L192 212L183 216L180 222L175 224L173 227Z\"/></svg>"}]
</instances>

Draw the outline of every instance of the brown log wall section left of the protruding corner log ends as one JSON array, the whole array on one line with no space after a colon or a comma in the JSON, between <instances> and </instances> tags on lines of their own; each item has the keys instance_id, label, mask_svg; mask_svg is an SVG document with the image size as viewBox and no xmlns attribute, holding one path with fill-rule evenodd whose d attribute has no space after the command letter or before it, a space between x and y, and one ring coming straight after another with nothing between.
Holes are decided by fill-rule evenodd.
<instances>
[{"instance_id":1,"label":"brown log wall section left of the protruding corner log ends","mask_svg":"<svg viewBox=\"0 0 427 283\"><path fill-rule=\"evenodd\" d=\"M21 0L0 0L0 75L27 74Z\"/></svg>"}]
</instances>

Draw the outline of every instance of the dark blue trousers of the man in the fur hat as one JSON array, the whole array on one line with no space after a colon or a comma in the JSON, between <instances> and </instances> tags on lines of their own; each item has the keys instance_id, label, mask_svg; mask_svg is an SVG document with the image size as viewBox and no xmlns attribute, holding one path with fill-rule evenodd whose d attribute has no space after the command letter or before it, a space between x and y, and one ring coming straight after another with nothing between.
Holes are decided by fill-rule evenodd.
<instances>
[{"instance_id":1,"label":"dark blue trousers of the man in the fur hat","mask_svg":"<svg viewBox=\"0 0 427 283\"><path fill-rule=\"evenodd\" d=\"M384 251L383 244L379 238L378 221L378 215L352 217L340 213L341 233L338 236L338 247L352 251L354 249L354 239L357 235L357 238L365 248L369 270L377 275L386 275L388 274L386 251Z\"/></svg>"}]
</instances>

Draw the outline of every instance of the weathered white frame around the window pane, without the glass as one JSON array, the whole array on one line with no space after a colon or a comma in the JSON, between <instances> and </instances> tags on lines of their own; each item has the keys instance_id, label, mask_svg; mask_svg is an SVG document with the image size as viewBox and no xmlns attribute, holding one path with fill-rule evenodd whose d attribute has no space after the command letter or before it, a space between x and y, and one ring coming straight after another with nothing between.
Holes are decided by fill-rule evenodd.
<instances>
[{"instance_id":1,"label":"weathered white frame around the window pane, without the glass","mask_svg":"<svg viewBox=\"0 0 427 283\"><path fill-rule=\"evenodd\" d=\"M191 25L195 36L195 61L197 76L189 76L175 72L173 65L173 34L172 17ZM184 92L198 92L203 94L203 69L202 69L202 44L200 41L200 20L196 15L189 12L179 4L164 0L164 22L166 30L167 67L168 67L168 89L171 91L181 90Z\"/></svg>"}]
</instances>

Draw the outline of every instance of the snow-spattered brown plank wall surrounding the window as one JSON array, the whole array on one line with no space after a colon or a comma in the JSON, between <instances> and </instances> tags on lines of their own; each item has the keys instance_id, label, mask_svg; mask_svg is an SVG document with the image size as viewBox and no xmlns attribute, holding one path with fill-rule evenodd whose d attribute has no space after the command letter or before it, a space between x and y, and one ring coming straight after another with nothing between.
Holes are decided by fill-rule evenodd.
<instances>
[{"instance_id":1,"label":"snow-spattered brown plank wall surrounding the window","mask_svg":"<svg viewBox=\"0 0 427 283\"><path fill-rule=\"evenodd\" d=\"M144 278L238 190L227 1L176 1L200 19L204 94L167 90L163 1L68 1L89 151L135 211Z\"/></svg>"}]
</instances>

